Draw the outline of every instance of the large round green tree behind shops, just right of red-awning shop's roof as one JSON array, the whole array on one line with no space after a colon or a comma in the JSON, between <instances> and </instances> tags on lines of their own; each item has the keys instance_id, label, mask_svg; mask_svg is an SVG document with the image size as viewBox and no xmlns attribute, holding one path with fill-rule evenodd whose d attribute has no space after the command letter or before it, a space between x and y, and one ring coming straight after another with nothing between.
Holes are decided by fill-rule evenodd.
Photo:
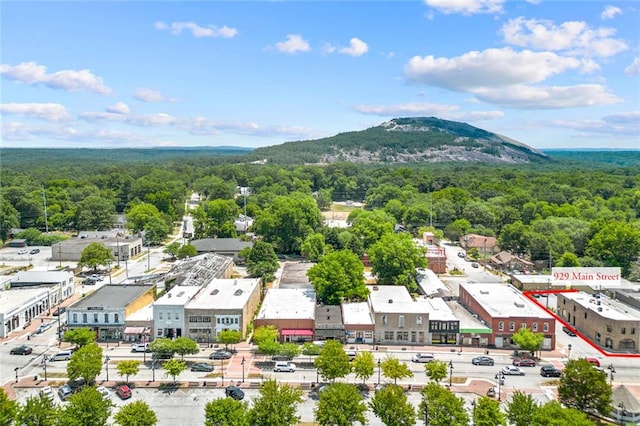
<instances>
[{"instance_id":1,"label":"large round green tree behind shops, just right of red-awning shop's roof","mask_svg":"<svg viewBox=\"0 0 640 426\"><path fill-rule=\"evenodd\" d=\"M307 271L319 301L339 305L360 301L369 294L362 261L350 250L329 253Z\"/></svg>"}]
</instances>

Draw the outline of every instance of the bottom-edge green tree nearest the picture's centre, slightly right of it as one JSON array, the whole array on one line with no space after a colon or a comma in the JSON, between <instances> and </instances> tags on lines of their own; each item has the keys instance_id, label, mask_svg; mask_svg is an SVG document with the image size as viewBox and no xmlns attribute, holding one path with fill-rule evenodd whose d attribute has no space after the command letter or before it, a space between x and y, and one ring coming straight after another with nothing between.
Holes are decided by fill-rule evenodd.
<instances>
[{"instance_id":1,"label":"bottom-edge green tree nearest the picture's centre, slightly right of it","mask_svg":"<svg viewBox=\"0 0 640 426\"><path fill-rule=\"evenodd\" d=\"M357 387L349 383L332 383L320 392L315 410L316 421L323 426L366 424L367 406Z\"/></svg>"}]
</instances>

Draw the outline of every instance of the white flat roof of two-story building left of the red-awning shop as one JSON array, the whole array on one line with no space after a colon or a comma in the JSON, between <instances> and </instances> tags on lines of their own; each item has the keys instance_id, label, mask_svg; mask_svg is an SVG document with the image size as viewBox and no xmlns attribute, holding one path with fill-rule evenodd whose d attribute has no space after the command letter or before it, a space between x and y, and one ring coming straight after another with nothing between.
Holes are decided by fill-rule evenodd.
<instances>
[{"instance_id":1,"label":"white flat roof of two-story building left of the red-awning shop","mask_svg":"<svg viewBox=\"0 0 640 426\"><path fill-rule=\"evenodd\" d=\"M249 301L260 278L216 279L187 304L187 309L242 309Z\"/></svg>"}]
</instances>

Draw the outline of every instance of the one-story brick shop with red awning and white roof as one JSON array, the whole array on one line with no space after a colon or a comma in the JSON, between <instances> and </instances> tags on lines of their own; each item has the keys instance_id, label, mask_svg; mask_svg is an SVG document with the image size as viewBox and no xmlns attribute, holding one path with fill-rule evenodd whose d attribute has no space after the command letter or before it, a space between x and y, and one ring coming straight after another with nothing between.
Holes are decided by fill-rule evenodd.
<instances>
[{"instance_id":1,"label":"one-story brick shop with red awning and white roof","mask_svg":"<svg viewBox=\"0 0 640 426\"><path fill-rule=\"evenodd\" d=\"M316 292L311 289L270 288L262 301L254 328L272 325L281 342L314 340Z\"/></svg>"}]
</instances>

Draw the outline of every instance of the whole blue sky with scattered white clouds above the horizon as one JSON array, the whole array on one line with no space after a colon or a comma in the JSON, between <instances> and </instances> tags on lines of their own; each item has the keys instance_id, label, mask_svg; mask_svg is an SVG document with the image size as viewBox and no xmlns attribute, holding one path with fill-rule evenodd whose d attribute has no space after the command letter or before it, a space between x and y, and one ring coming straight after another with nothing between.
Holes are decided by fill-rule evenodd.
<instances>
[{"instance_id":1,"label":"whole blue sky with scattered white clouds above the horizon","mask_svg":"<svg viewBox=\"0 0 640 426\"><path fill-rule=\"evenodd\" d=\"M4 147L276 145L395 117L640 149L640 1L3 1Z\"/></svg>"}]
</instances>

